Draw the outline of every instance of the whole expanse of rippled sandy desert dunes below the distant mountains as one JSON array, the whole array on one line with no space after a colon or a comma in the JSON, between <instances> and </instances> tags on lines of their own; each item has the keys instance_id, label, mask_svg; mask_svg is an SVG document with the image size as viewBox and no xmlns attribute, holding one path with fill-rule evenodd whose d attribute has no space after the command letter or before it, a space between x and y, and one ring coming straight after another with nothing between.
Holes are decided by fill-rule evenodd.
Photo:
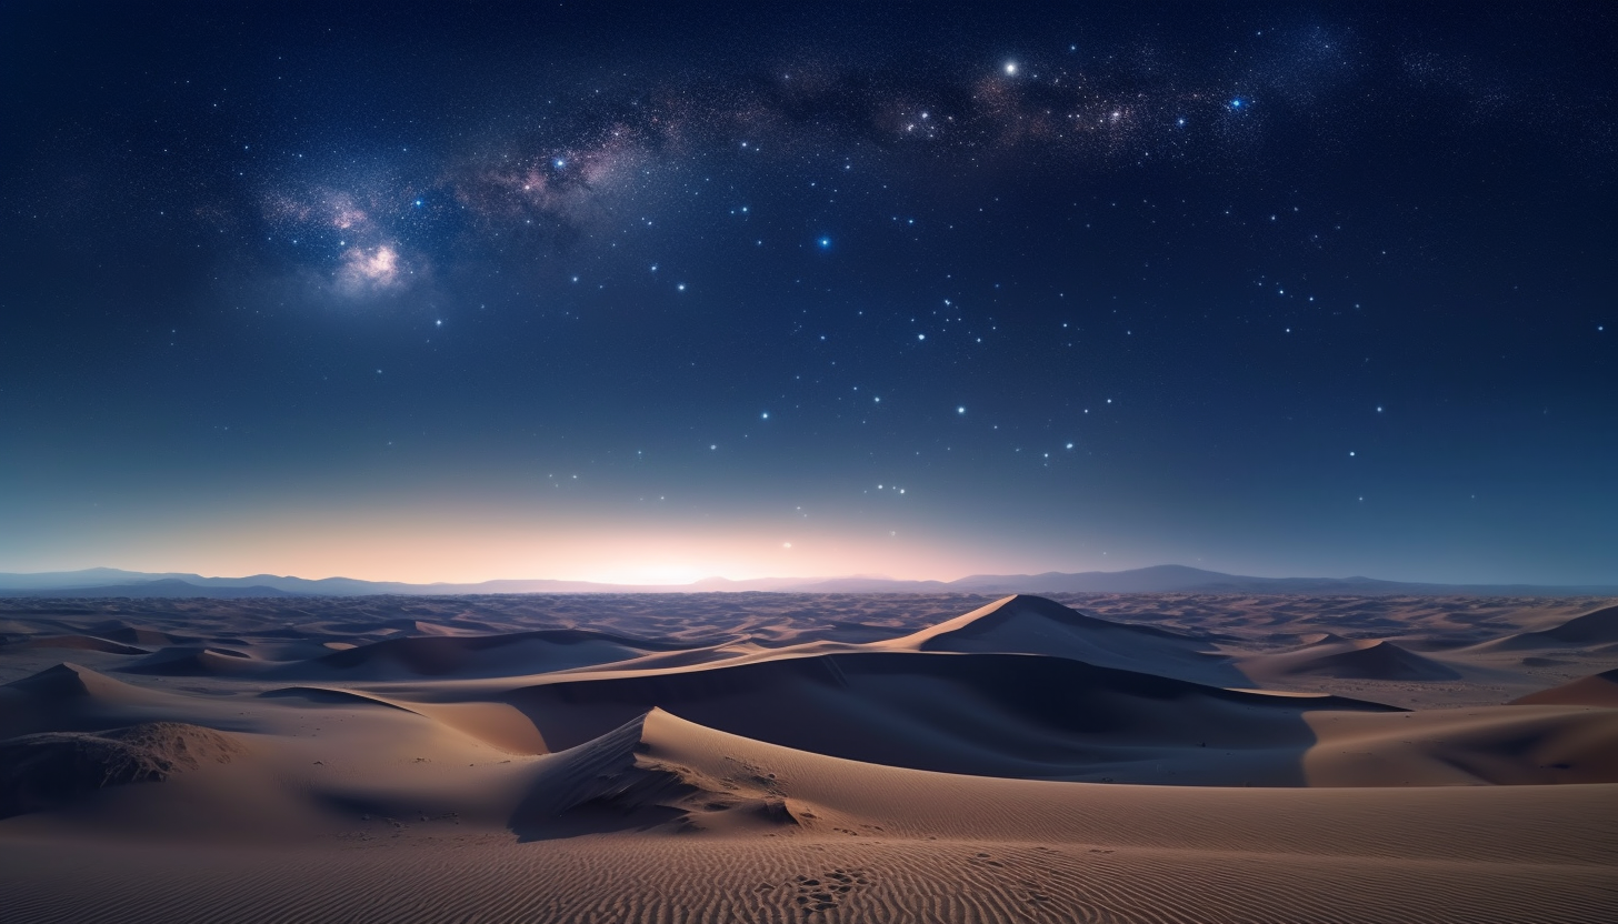
<instances>
[{"instance_id":1,"label":"whole expanse of rippled sandy desert dunes below the distant mountains","mask_svg":"<svg viewBox=\"0 0 1618 924\"><path fill-rule=\"evenodd\" d=\"M1618 607L0 602L0 921L1605 921Z\"/></svg>"}]
</instances>

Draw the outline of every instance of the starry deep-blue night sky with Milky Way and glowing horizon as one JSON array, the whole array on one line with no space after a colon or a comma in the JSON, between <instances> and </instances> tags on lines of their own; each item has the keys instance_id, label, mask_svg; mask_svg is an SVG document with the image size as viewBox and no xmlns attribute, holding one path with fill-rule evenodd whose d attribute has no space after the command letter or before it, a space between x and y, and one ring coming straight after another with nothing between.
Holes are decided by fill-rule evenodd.
<instances>
[{"instance_id":1,"label":"starry deep-blue night sky with Milky Way and glowing horizon","mask_svg":"<svg viewBox=\"0 0 1618 924\"><path fill-rule=\"evenodd\" d=\"M8 3L0 571L1618 581L1612 5Z\"/></svg>"}]
</instances>

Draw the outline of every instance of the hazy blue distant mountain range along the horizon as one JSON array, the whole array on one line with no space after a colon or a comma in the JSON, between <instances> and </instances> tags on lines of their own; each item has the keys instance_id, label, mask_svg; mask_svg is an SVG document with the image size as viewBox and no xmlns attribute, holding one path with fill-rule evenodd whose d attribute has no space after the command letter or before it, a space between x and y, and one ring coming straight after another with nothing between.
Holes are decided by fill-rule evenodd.
<instances>
[{"instance_id":1,"label":"hazy blue distant mountain range along the horizon","mask_svg":"<svg viewBox=\"0 0 1618 924\"><path fill-rule=\"evenodd\" d=\"M1068 574L972 574L958 581L892 578L705 578L691 584L595 584L589 581L508 579L479 584L404 584L354 578L204 578L201 574L87 568L36 574L0 573L0 597L356 597L369 594L670 594L762 591L793 594L1476 594L1518 597L1618 596L1618 584L1416 584L1375 578L1251 578L1184 565Z\"/></svg>"}]
</instances>

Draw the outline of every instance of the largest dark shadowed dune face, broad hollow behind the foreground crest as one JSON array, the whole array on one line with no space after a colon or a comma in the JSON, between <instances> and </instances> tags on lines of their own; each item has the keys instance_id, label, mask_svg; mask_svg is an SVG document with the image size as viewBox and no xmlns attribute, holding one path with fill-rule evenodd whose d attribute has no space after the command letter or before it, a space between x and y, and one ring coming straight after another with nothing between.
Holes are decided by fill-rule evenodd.
<instances>
[{"instance_id":1,"label":"largest dark shadowed dune face, broad hollow behind the foreground crest","mask_svg":"<svg viewBox=\"0 0 1618 924\"><path fill-rule=\"evenodd\" d=\"M853 761L992 777L1298 785L1309 710L1388 710L1340 697L1210 688L1076 660L870 651L555 681L506 694L545 741L581 744L644 714L675 715ZM1196 769L1184 767L1186 751Z\"/></svg>"}]
</instances>

